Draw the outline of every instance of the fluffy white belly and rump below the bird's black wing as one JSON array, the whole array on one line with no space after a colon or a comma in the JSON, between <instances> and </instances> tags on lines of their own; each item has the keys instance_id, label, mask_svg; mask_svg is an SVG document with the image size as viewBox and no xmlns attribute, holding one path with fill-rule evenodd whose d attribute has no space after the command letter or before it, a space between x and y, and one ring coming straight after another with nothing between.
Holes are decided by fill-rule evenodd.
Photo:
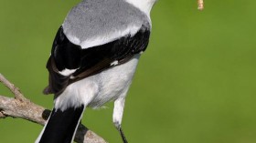
<instances>
[{"instance_id":1,"label":"fluffy white belly and rump below the bird's black wing","mask_svg":"<svg viewBox=\"0 0 256 143\"><path fill-rule=\"evenodd\" d=\"M55 107L61 110L67 107L101 107L106 102L125 97L132 83L133 75L140 55L127 63L114 66L101 73L84 78L67 87L55 99Z\"/></svg>"}]
</instances>

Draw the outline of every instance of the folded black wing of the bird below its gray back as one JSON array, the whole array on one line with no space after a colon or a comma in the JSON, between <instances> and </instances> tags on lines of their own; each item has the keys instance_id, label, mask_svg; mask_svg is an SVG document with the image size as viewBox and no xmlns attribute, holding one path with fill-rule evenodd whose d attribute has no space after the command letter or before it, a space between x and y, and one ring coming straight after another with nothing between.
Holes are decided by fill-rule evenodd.
<instances>
[{"instance_id":1,"label":"folded black wing of the bird below its gray back","mask_svg":"<svg viewBox=\"0 0 256 143\"><path fill-rule=\"evenodd\" d=\"M69 84L116 66L112 65L113 61L118 61L118 65L125 63L146 49L149 36L148 27L142 26L134 36L123 36L102 46L82 49L69 41L60 26L48 59L49 83L44 94L59 95ZM70 76L62 76L59 71L64 69L77 70Z\"/></svg>"}]
</instances>

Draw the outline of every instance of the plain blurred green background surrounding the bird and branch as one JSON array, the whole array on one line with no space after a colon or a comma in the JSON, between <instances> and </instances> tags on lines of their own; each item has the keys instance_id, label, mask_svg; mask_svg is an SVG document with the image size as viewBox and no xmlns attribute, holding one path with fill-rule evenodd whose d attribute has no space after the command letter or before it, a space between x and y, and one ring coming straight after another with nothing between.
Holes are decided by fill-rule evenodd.
<instances>
[{"instance_id":1,"label":"plain blurred green background surrounding the bird and branch","mask_svg":"<svg viewBox=\"0 0 256 143\"><path fill-rule=\"evenodd\" d=\"M53 38L79 0L0 3L0 73L33 102L43 96ZM131 143L256 142L256 1L159 0L153 32L126 100L123 129ZM0 95L12 94L0 85ZM83 123L121 142L107 109L86 110ZM34 142L41 126L0 119L1 143Z\"/></svg>"}]
</instances>

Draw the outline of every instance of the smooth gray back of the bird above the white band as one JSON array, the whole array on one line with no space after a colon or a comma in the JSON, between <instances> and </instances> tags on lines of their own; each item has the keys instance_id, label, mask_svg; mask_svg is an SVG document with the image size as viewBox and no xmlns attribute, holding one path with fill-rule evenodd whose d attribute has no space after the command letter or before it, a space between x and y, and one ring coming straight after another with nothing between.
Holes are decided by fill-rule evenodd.
<instances>
[{"instance_id":1,"label":"smooth gray back of the bird above the white band","mask_svg":"<svg viewBox=\"0 0 256 143\"><path fill-rule=\"evenodd\" d=\"M83 0L70 10L62 26L67 36L82 42L142 25L151 25L147 15L124 0Z\"/></svg>"}]
</instances>

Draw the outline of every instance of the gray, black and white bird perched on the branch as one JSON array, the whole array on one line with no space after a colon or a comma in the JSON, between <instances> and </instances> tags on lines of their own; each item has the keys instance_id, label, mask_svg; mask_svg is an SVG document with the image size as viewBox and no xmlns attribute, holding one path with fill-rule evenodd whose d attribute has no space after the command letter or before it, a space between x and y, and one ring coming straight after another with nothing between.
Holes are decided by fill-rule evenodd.
<instances>
[{"instance_id":1,"label":"gray, black and white bird perched on the branch","mask_svg":"<svg viewBox=\"0 0 256 143\"><path fill-rule=\"evenodd\" d=\"M37 143L73 141L86 107L114 101L112 121L121 122L126 93L152 28L155 0L83 0L69 11L48 59L54 108Z\"/></svg>"}]
</instances>

